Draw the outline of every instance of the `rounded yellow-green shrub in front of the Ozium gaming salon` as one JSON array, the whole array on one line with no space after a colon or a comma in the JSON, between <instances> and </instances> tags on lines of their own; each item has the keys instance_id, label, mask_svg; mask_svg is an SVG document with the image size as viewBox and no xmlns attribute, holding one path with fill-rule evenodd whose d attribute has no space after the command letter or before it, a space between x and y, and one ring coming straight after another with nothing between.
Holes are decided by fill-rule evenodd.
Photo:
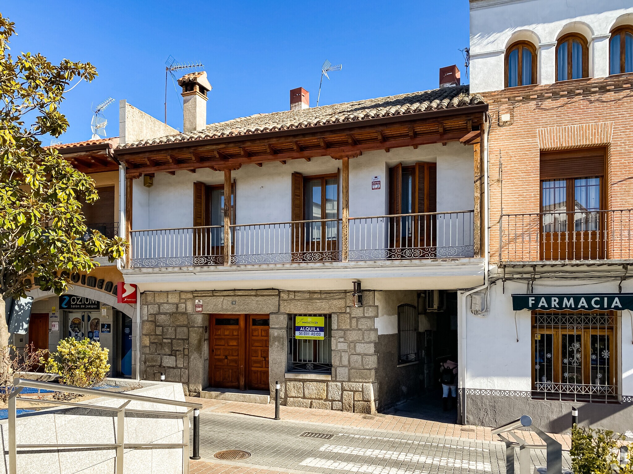
<instances>
[{"instance_id":1,"label":"rounded yellow-green shrub in front of the Ozium gaming salon","mask_svg":"<svg viewBox=\"0 0 633 474\"><path fill-rule=\"evenodd\" d=\"M101 344L84 339L76 341L73 337L62 339L57 352L51 354L46 363L46 372L60 375L60 384L76 387L92 387L108 375L108 349Z\"/></svg>"}]
</instances>

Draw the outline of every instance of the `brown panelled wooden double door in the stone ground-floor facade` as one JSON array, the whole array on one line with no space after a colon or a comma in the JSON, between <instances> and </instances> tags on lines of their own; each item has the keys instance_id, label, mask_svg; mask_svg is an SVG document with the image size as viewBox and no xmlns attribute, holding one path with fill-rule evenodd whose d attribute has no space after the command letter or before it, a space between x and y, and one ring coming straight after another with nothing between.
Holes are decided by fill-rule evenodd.
<instances>
[{"instance_id":1,"label":"brown panelled wooden double door in the stone ground-floor facade","mask_svg":"<svg viewBox=\"0 0 633 474\"><path fill-rule=\"evenodd\" d=\"M267 314L212 314L209 384L239 390L268 390Z\"/></svg>"}]
</instances>

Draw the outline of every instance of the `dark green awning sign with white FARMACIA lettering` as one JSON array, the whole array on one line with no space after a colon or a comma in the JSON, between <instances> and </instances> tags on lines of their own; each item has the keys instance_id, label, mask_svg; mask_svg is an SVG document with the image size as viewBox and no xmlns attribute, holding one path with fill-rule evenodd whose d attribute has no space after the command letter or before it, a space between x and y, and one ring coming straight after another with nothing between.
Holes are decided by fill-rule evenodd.
<instances>
[{"instance_id":1,"label":"dark green awning sign with white FARMACIA lettering","mask_svg":"<svg viewBox=\"0 0 633 474\"><path fill-rule=\"evenodd\" d=\"M512 309L541 311L633 310L633 293L512 295Z\"/></svg>"}]
</instances>

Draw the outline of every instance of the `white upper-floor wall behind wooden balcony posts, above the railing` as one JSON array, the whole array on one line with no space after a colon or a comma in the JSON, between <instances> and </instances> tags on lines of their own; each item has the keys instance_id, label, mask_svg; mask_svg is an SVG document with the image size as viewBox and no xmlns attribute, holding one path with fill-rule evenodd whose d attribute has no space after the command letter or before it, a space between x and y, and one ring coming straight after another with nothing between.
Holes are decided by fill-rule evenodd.
<instances>
[{"instance_id":1,"label":"white upper-floor wall behind wooden balcony posts, above the railing","mask_svg":"<svg viewBox=\"0 0 633 474\"><path fill-rule=\"evenodd\" d=\"M382 216L388 212L388 168L418 161L437 162L437 210L473 209L473 151L460 143L366 152L349 162L350 217ZM237 224L287 222L291 220L291 175L337 173L340 161L318 157L310 162L246 165L232 172L235 179ZM193 183L223 183L223 173L198 169L195 174L177 171L175 176L156 173L154 185L146 188L134 180L132 229L165 229L193 225ZM380 176L380 190L372 190L373 176ZM339 205L340 216L340 205Z\"/></svg>"}]
</instances>

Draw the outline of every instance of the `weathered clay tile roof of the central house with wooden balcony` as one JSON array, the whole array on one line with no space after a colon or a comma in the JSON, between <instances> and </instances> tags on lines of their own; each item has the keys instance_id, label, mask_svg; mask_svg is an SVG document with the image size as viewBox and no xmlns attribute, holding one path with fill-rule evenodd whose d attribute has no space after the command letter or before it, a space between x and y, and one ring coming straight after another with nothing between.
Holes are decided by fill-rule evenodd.
<instances>
[{"instance_id":1,"label":"weathered clay tile roof of the central house with wooden balcony","mask_svg":"<svg viewBox=\"0 0 633 474\"><path fill-rule=\"evenodd\" d=\"M253 135L268 131L310 128L333 123L476 106L484 103L481 95L468 92L468 85L444 87L424 92L411 92L409 94L378 97L377 99L333 104L331 106L256 114L226 122L212 123L202 130L125 143L125 145L119 145L118 148L187 142L206 138L237 137L239 135Z\"/></svg>"}]
</instances>

